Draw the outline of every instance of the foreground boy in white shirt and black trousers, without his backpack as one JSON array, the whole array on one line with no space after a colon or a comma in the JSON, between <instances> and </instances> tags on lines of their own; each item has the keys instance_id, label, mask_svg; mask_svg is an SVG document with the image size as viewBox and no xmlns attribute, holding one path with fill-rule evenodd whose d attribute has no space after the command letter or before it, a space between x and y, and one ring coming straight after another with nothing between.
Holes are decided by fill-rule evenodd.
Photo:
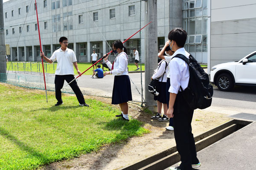
<instances>
[{"instance_id":1,"label":"foreground boy in white shirt and black trousers, without his backpack","mask_svg":"<svg viewBox=\"0 0 256 170\"><path fill-rule=\"evenodd\" d=\"M184 55L189 59L190 54L185 50L187 33L182 28L175 28L168 34L169 46L174 51L170 65L170 98L167 116L174 119L174 136L181 164L170 167L170 170L192 170L201 166L195 150L195 140L192 134L192 117L194 110L183 96L183 90L189 85L189 65L178 57ZM182 90L183 89L183 90Z\"/></svg>"}]
</instances>

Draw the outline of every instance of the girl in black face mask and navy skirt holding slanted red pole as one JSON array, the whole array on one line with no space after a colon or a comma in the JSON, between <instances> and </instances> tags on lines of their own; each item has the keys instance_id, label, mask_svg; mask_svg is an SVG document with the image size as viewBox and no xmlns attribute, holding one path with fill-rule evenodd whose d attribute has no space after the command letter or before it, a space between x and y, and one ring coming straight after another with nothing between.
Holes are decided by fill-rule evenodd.
<instances>
[{"instance_id":1,"label":"girl in black face mask and navy skirt holding slanted red pole","mask_svg":"<svg viewBox=\"0 0 256 170\"><path fill-rule=\"evenodd\" d=\"M129 121L128 118L128 101L132 100L131 96L131 82L128 76L128 55L126 54L127 50L124 47L123 43L119 40L116 40L112 44L113 53L116 54L116 59L113 64L108 61L108 56L104 55L104 60L108 65L108 68L111 71L106 71L104 76L108 74L115 75L113 93L112 93L112 104L119 104L122 111L121 114L116 115L123 120Z\"/></svg>"}]
</instances>

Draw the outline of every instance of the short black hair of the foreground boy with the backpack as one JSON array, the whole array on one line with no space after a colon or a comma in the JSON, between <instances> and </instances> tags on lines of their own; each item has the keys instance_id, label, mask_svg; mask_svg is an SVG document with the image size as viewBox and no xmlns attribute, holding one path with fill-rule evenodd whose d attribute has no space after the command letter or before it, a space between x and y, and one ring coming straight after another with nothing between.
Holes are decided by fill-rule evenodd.
<instances>
[{"instance_id":1,"label":"short black hair of the foreground boy with the backpack","mask_svg":"<svg viewBox=\"0 0 256 170\"><path fill-rule=\"evenodd\" d=\"M169 40L174 40L178 47L184 47L187 38L187 33L182 28L175 28L168 34Z\"/></svg>"}]
</instances>

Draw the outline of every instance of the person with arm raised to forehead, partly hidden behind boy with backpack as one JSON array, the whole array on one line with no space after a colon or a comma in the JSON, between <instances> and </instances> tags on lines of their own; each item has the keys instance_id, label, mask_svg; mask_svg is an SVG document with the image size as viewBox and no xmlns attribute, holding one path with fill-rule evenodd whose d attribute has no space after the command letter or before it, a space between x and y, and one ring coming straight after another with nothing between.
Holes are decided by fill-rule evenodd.
<instances>
[{"instance_id":1,"label":"person with arm raised to forehead, partly hidden behind boy with backpack","mask_svg":"<svg viewBox=\"0 0 256 170\"><path fill-rule=\"evenodd\" d=\"M166 42L165 46L163 48L160 48L161 51L158 53L159 59L165 59L167 62L170 62L172 59L172 52L171 48L169 47L169 41ZM168 67L170 65L168 64ZM170 69L170 68L169 68ZM169 108L169 98L170 98L170 71L167 70L167 80L166 80L166 100L167 100L167 108ZM166 130L174 130L173 129L173 118L169 118L169 126L166 127Z\"/></svg>"}]
</instances>

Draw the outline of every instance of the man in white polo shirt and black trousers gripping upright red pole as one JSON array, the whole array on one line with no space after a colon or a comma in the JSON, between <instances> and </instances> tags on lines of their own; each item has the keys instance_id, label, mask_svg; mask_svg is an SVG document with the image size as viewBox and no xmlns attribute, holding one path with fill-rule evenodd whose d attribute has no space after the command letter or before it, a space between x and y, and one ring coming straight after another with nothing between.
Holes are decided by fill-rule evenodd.
<instances>
[{"instance_id":1,"label":"man in white polo shirt and black trousers gripping upright red pole","mask_svg":"<svg viewBox=\"0 0 256 170\"><path fill-rule=\"evenodd\" d=\"M66 80L66 82L69 83L73 79L75 79L73 65L75 66L77 73L81 74L76 62L75 52L67 48L67 45L68 45L67 37L61 37L59 42L60 42L61 48L54 51L50 59L44 55L43 51L40 52L41 57L43 57L47 62L49 63L52 63L55 61L58 62L57 69L55 71L55 80L54 80L55 97L58 100L55 106L63 104L61 99L61 88L63 88L64 80ZM79 101L79 105L89 107L89 105L85 103L84 96L80 88L78 87L76 81L73 81L72 83L70 83L70 87L76 94L76 98Z\"/></svg>"}]
</instances>

